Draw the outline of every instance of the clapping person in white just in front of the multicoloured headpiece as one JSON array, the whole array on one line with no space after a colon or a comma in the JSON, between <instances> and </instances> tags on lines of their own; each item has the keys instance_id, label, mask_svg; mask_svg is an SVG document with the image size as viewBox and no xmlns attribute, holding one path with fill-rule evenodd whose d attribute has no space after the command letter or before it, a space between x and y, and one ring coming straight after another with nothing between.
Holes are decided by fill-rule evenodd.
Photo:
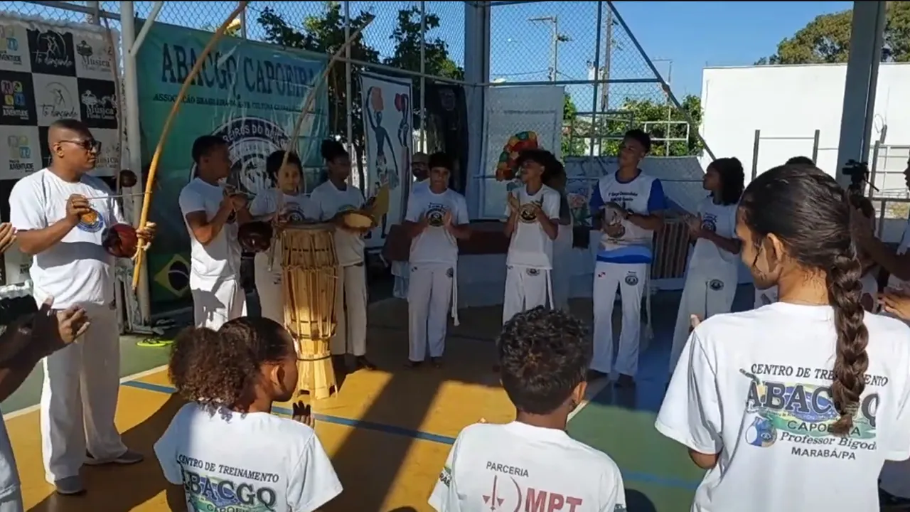
<instances>
[{"instance_id":1,"label":"clapping person in white just in front of the multicoloured headpiece","mask_svg":"<svg viewBox=\"0 0 910 512\"><path fill-rule=\"evenodd\" d=\"M543 184L548 169L558 163L550 151L527 149L516 165L522 186L509 193L505 235L511 237L506 255L506 288L502 323L517 312L553 306L550 271L553 241L559 234L560 193ZM549 164L549 166L548 166Z\"/></svg>"}]
</instances>

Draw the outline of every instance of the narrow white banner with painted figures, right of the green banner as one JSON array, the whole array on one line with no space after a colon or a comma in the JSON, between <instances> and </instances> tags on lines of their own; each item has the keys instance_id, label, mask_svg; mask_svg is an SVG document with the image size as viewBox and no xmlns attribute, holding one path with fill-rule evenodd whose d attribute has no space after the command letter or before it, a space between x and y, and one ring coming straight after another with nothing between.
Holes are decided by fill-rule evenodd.
<instances>
[{"instance_id":1,"label":"narrow white banner with painted figures, right of the green banner","mask_svg":"<svg viewBox=\"0 0 910 512\"><path fill-rule=\"evenodd\" d=\"M404 179L410 180L410 157L414 148L411 127L410 78L360 73L360 102L367 139L367 186L364 195L375 195L389 186L389 213L367 235L367 247L382 247L389 230L404 219Z\"/></svg>"}]
</instances>

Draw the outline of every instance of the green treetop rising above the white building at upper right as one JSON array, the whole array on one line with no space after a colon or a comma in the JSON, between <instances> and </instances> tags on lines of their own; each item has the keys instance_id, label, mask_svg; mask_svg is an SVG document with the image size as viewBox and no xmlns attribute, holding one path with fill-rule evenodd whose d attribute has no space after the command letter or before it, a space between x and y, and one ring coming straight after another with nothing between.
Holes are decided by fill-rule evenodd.
<instances>
[{"instance_id":1,"label":"green treetop rising above the white building at upper right","mask_svg":"<svg viewBox=\"0 0 910 512\"><path fill-rule=\"evenodd\" d=\"M765 64L833 64L847 61L850 54L853 11L819 15L777 45L772 56L755 62ZM910 2L888 2L882 62L910 61Z\"/></svg>"}]
</instances>

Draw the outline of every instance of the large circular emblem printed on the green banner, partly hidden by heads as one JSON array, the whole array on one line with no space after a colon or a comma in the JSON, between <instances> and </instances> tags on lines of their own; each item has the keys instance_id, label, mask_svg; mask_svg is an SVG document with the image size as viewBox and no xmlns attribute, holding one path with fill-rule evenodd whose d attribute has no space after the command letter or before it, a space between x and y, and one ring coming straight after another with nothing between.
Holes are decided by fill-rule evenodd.
<instances>
[{"instance_id":1,"label":"large circular emblem printed on the green banner, partly hidden by heads","mask_svg":"<svg viewBox=\"0 0 910 512\"><path fill-rule=\"evenodd\" d=\"M227 179L229 183L236 183L239 191L251 196L271 187L266 175L266 159L272 152L287 148L288 134L284 128L265 118L233 118L216 128L212 135L225 139L230 148L233 163ZM189 179L195 176L194 164Z\"/></svg>"}]
</instances>

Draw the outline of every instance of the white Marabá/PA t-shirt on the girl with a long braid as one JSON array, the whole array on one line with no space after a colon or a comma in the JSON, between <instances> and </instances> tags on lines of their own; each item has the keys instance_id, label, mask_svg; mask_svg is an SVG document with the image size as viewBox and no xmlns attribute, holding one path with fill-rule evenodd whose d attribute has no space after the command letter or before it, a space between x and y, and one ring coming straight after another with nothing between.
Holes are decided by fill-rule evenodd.
<instances>
[{"instance_id":1,"label":"white Marab\u00e1/PA t-shirt on the girl with a long braid","mask_svg":"<svg viewBox=\"0 0 910 512\"><path fill-rule=\"evenodd\" d=\"M878 510L879 470L910 456L910 328L864 319L869 368L849 437L826 434L839 417L829 306L774 302L693 331L655 425L720 454L693 512Z\"/></svg>"}]
</instances>

